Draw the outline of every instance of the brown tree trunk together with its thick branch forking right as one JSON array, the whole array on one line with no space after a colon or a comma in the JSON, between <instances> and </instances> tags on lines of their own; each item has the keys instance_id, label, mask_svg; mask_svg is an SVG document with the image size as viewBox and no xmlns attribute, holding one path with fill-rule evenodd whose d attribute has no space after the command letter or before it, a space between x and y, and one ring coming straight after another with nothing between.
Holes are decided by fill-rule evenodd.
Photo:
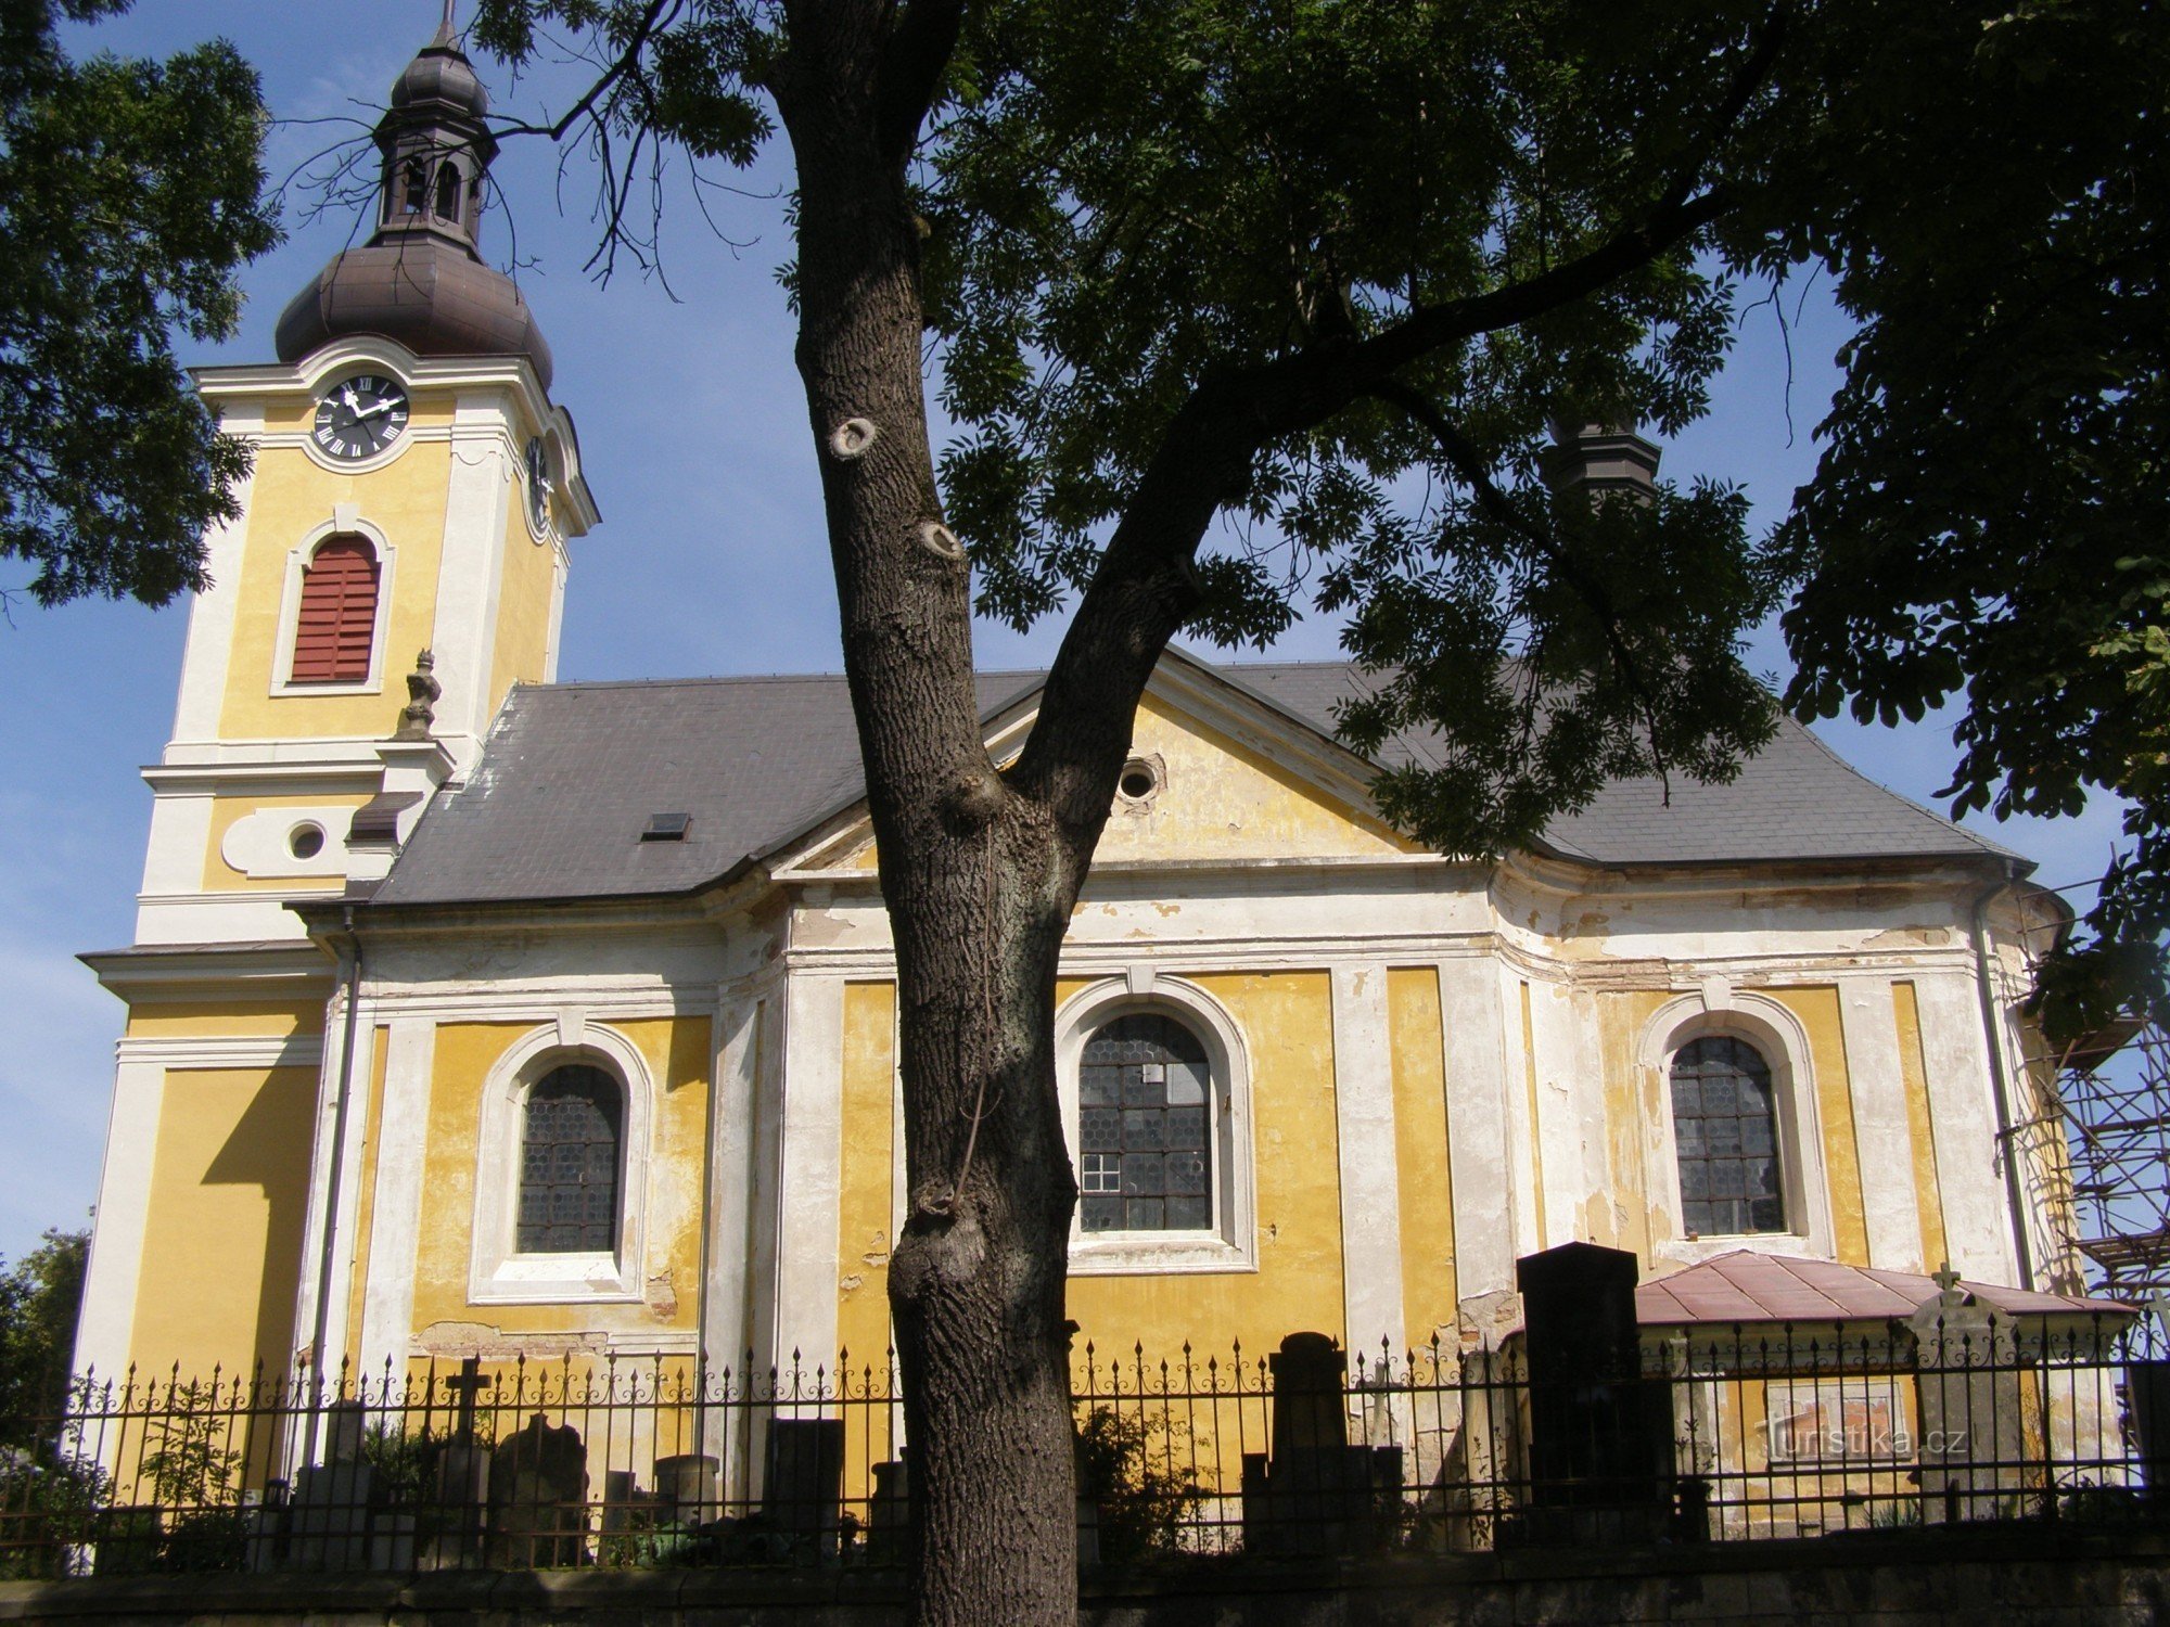
<instances>
[{"instance_id":1,"label":"brown tree trunk together with its thick branch forking right","mask_svg":"<svg viewBox=\"0 0 2170 1627\"><path fill-rule=\"evenodd\" d=\"M799 371L820 447L881 894L896 946L909 1215L890 1308L911 1451L911 1618L1072 1627L1063 1276L1076 1180L1055 972L1137 701L1196 605L1191 558L1256 449L1443 343L1573 302L1727 200L1649 219L1526 284L1200 382L1144 471L1007 770L981 733L970 566L927 443L920 221L905 182L961 0L794 0L770 89L799 169Z\"/></svg>"}]
</instances>

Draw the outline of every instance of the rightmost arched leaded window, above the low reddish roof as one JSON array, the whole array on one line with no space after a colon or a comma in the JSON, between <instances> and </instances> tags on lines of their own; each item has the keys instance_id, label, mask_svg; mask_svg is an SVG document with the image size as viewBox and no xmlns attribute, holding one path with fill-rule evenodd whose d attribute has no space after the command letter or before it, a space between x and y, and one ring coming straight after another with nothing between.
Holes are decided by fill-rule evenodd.
<instances>
[{"instance_id":1,"label":"rightmost arched leaded window, above the low reddish roof","mask_svg":"<svg viewBox=\"0 0 2170 1627\"><path fill-rule=\"evenodd\" d=\"M1673 1145L1690 1237L1786 1230L1777 1096L1756 1046L1710 1035L1673 1054Z\"/></svg>"}]
</instances>

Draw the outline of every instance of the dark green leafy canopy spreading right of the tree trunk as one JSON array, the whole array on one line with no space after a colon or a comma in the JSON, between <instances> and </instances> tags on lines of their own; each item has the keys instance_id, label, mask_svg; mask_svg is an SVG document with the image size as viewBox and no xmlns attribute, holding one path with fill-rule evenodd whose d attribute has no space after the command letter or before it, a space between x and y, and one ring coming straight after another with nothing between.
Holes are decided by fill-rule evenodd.
<instances>
[{"instance_id":1,"label":"dark green leafy canopy spreading right of the tree trunk","mask_svg":"<svg viewBox=\"0 0 2170 1627\"><path fill-rule=\"evenodd\" d=\"M1389 811L1497 853L1606 777L1732 772L1775 716L1740 640L1792 597L1797 714L1964 694L1960 809L2133 798L2085 998L2161 1000L2159 9L482 0L475 37L571 35L592 130L749 163L853 26L879 111L833 134L922 236L979 607L1076 605L1052 714L1309 603L1376 670L1350 740L1430 740ZM1545 479L1554 425L1701 417L1745 295L1803 273L1860 334L1773 538L1732 486ZM1068 807L1035 746L1013 783Z\"/></svg>"}]
</instances>

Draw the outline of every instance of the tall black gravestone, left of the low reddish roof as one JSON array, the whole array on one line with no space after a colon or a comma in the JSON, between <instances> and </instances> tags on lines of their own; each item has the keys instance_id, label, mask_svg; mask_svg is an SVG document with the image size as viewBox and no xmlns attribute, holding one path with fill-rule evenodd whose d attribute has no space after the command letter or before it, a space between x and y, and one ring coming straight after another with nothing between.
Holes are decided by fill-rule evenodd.
<instances>
[{"instance_id":1,"label":"tall black gravestone, left of the low reddish roof","mask_svg":"<svg viewBox=\"0 0 2170 1627\"><path fill-rule=\"evenodd\" d=\"M1643 1382L1636 1258L1562 1243L1515 1263L1530 1371L1530 1501L1539 1542L1647 1542L1667 1525L1671 1397Z\"/></svg>"}]
</instances>

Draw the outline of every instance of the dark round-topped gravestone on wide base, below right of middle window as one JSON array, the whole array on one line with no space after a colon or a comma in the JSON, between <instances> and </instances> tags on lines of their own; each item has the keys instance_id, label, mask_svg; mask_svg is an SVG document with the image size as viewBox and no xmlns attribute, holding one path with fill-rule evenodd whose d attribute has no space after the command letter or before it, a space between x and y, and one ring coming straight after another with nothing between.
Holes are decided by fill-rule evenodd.
<instances>
[{"instance_id":1,"label":"dark round-topped gravestone on wide base, below right of middle window","mask_svg":"<svg viewBox=\"0 0 2170 1627\"><path fill-rule=\"evenodd\" d=\"M1350 1443L1348 1367L1326 1334L1289 1334L1265 1360L1274 1373L1272 1453L1243 1453L1243 1549L1376 1547L1400 1503L1402 1449Z\"/></svg>"}]
</instances>

